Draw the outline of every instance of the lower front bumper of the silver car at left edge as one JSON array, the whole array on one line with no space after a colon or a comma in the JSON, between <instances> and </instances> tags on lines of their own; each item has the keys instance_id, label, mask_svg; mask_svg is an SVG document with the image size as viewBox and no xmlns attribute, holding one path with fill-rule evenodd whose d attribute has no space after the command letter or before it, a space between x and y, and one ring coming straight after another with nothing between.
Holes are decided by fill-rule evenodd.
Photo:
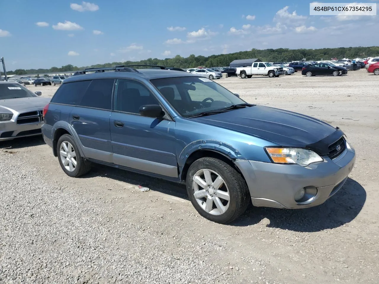
<instances>
[{"instance_id":1,"label":"lower front bumper of the silver car at left edge","mask_svg":"<svg viewBox=\"0 0 379 284\"><path fill-rule=\"evenodd\" d=\"M18 137L41 135L43 122L18 125L16 122L0 123L0 141L12 140Z\"/></svg>"}]
</instances>

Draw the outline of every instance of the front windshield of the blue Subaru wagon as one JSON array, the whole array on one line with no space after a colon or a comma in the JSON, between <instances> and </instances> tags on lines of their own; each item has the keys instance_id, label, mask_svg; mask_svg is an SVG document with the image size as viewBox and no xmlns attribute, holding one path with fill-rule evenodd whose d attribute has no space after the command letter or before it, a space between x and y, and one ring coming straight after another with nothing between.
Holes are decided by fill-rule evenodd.
<instances>
[{"instance_id":1,"label":"front windshield of the blue Subaru wagon","mask_svg":"<svg viewBox=\"0 0 379 284\"><path fill-rule=\"evenodd\" d=\"M150 81L183 117L245 103L208 78L176 77Z\"/></svg>"}]
</instances>

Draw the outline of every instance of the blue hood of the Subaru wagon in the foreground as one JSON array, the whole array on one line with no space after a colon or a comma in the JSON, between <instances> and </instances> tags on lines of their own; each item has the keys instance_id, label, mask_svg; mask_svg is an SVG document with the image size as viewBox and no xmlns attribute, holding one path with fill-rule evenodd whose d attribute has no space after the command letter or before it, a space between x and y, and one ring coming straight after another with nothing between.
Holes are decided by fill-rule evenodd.
<instances>
[{"instance_id":1,"label":"blue hood of the Subaru wagon in the foreground","mask_svg":"<svg viewBox=\"0 0 379 284\"><path fill-rule=\"evenodd\" d=\"M305 147L336 131L313 117L266 106L236 109L193 120L260 137L284 147Z\"/></svg>"}]
</instances>

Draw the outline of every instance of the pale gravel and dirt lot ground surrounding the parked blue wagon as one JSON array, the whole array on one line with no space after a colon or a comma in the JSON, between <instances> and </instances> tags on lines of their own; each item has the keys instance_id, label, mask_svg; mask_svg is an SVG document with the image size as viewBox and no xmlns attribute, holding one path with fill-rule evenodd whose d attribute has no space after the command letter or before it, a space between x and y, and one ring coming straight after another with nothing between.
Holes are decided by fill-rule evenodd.
<instances>
[{"instance_id":1,"label":"pale gravel and dirt lot ground surrounding the parked blue wagon","mask_svg":"<svg viewBox=\"0 0 379 284\"><path fill-rule=\"evenodd\" d=\"M74 179L41 137L0 142L0 283L377 283L378 80L366 70L217 80L340 126L357 152L326 203L251 207L231 225L200 217L184 187L105 166Z\"/></svg>"}]
</instances>

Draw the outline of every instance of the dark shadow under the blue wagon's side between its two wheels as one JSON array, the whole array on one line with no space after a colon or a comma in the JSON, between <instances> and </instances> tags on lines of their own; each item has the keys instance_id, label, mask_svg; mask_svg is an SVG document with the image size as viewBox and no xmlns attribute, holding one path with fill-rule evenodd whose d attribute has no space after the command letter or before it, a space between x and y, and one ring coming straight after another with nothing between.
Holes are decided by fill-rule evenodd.
<instances>
[{"instance_id":1,"label":"dark shadow under the blue wagon's side between its two wheels","mask_svg":"<svg viewBox=\"0 0 379 284\"><path fill-rule=\"evenodd\" d=\"M153 178L139 173L129 172L127 170L116 169L106 165L94 164L91 172L80 176L79 178L93 178L95 176L111 178L124 183L133 184L135 186L146 186L149 187L150 190L189 200L186 187L184 185L171 181L165 181L159 178Z\"/></svg>"}]
</instances>

